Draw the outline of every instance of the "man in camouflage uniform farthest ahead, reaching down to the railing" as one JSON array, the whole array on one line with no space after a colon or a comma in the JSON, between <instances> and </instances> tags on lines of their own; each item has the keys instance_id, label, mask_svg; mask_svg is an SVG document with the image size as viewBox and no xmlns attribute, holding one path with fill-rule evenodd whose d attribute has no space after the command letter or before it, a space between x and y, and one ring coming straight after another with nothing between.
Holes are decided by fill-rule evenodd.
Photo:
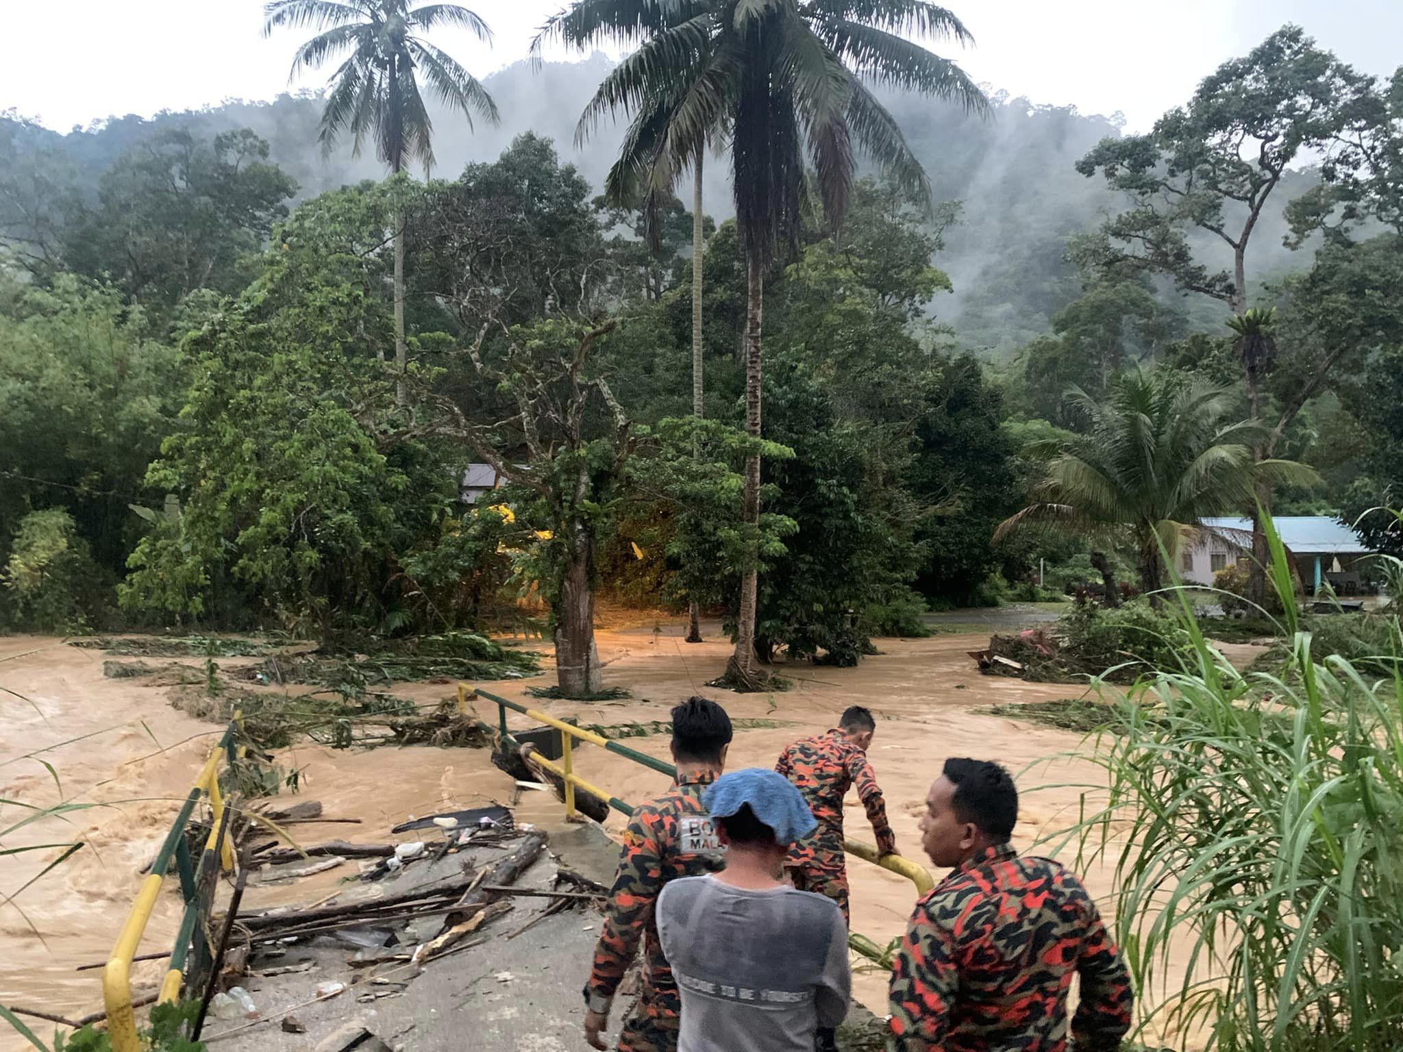
<instances>
[{"instance_id":1,"label":"man in camouflage uniform farthest ahead, reaching down to the railing","mask_svg":"<svg viewBox=\"0 0 1403 1052\"><path fill-rule=\"evenodd\" d=\"M897 837L887 822L887 807L877 777L867 763L877 721L861 706L852 706L828 734L803 738L780 753L774 770L788 778L818 819L818 829L796 843L784 868L800 891L831 898L852 924L847 909L847 864L843 860L843 797L852 785L867 809L881 854L897 853ZM815 1048L835 1048L832 1030L819 1030Z\"/></svg>"}]
</instances>

